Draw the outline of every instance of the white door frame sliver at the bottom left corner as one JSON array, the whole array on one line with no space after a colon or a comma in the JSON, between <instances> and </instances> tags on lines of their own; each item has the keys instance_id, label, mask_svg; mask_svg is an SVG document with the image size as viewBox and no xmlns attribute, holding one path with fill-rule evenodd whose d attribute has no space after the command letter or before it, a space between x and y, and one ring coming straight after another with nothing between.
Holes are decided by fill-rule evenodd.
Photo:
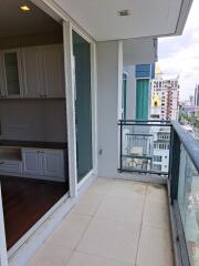
<instances>
[{"instance_id":1,"label":"white door frame sliver at the bottom left corner","mask_svg":"<svg viewBox=\"0 0 199 266\"><path fill-rule=\"evenodd\" d=\"M3 206L0 184L0 265L8 266L7 241L4 233Z\"/></svg>"}]
</instances>

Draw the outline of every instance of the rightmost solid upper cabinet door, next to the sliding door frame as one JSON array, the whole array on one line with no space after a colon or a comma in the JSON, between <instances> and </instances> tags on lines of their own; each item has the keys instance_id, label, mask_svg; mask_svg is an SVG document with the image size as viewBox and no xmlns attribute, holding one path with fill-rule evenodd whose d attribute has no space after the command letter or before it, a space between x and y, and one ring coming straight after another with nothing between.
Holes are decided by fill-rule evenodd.
<instances>
[{"instance_id":1,"label":"rightmost solid upper cabinet door, next to the sliding door frame","mask_svg":"<svg viewBox=\"0 0 199 266\"><path fill-rule=\"evenodd\" d=\"M45 95L48 98L64 98L63 45L48 45L41 49Z\"/></svg>"}]
</instances>

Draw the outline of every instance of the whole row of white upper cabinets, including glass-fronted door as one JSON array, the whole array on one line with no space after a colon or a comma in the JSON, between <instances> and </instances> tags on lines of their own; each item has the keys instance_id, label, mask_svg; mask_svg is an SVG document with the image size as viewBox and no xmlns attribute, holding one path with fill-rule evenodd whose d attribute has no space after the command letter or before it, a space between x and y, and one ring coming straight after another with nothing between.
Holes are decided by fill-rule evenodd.
<instances>
[{"instance_id":1,"label":"whole row of white upper cabinets, including glass-fronted door","mask_svg":"<svg viewBox=\"0 0 199 266\"><path fill-rule=\"evenodd\" d=\"M0 51L0 98L64 98L62 44Z\"/></svg>"}]
</instances>

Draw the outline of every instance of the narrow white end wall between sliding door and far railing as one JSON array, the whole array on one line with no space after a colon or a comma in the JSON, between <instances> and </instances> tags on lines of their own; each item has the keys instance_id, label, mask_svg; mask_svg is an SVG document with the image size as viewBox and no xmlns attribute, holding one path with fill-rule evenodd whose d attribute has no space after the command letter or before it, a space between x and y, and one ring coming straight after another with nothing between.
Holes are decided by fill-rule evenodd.
<instances>
[{"instance_id":1,"label":"narrow white end wall between sliding door and far railing","mask_svg":"<svg viewBox=\"0 0 199 266\"><path fill-rule=\"evenodd\" d=\"M122 47L121 42L111 41L97 42L96 48L98 176L114 177L118 168L117 121L123 75Z\"/></svg>"}]
</instances>

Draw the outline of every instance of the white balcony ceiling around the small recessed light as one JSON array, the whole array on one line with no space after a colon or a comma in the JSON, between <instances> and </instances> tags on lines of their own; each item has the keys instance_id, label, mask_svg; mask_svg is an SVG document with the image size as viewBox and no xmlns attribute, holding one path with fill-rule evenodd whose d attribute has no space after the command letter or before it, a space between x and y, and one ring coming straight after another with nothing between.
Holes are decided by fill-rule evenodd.
<instances>
[{"instance_id":1,"label":"white balcony ceiling around the small recessed light","mask_svg":"<svg viewBox=\"0 0 199 266\"><path fill-rule=\"evenodd\" d=\"M192 0L54 0L98 41L159 37L182 30ZM119 17L117 11L129 10Z\"/></svg>"}]
</instances>

